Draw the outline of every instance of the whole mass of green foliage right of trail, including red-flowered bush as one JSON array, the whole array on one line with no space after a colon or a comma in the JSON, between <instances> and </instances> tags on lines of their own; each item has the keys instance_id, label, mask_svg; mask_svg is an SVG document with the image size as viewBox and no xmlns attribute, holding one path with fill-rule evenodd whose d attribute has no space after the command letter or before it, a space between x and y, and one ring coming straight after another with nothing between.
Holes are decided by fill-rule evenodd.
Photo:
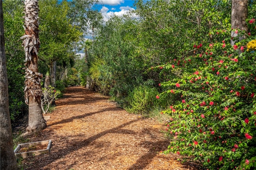
<instances>
[{"instance_id":1,"label":"whole mass of green foliage right of trail, including red-flowered bush","mask_svg":"<svg viewBox=\"0 0 256 170\"><path fill-rule=\"evenodd\" d=\"M230 45L231 1L137 1L137 19L114 17L90 51L96 90L128 111L169 115L165 153L208 169L256 168L255 6L247 39Z\"/></svg>"}]
</instances>

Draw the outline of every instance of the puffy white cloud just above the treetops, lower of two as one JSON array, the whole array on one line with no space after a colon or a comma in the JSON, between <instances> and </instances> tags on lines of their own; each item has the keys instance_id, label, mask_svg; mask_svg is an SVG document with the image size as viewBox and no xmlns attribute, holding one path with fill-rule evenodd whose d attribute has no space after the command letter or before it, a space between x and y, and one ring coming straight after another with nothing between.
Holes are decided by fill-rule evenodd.
<instances>
[{"instance_id":1,"label":"puffy white cloud just above the treetops, lower of two","mask_svg":"<svg viewBox=\"0 0 256 170\"><path fill-rule=\"evenodd\" d=\"M100 12L102 13L102 16L103 16L103 20L104 21L108 21L108 19L113 16L113 15L116 15L116 16L122 16L122 15L125 15L125 14L128 14L129 11L132 11L134 10L134 8L130 7L130 6L121 6L119 8L121 11L118 11L118 12L108 12L109 9L105 6L103 6L100 10ZM137 16L135 16L135 14L131 15L131 17L134 17L134 18L137 18Z\"/></svg>"}]
</instances>

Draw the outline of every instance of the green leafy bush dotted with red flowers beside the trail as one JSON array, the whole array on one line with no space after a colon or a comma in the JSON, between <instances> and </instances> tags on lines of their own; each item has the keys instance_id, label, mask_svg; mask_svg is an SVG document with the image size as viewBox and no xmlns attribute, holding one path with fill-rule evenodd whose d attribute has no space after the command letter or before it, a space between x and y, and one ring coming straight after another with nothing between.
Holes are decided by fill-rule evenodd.
<instances>
[{"instance_id":1,"label":"green leafy bush dotted with red flowers beside the trail","mask_svg":"<svg viewBox=\"0 0 256 170\"><path fill-rule=\"evenodd\" d=\"M180 96L162 111L170 115L172 137L165 153L192 156L214 170L256 168L255 31L234 46L230 30L212 31L222 41L191 45L194 55L155 67L182 70L161 83L165 91L157 97Z\"/></svg>"}]
</instances>

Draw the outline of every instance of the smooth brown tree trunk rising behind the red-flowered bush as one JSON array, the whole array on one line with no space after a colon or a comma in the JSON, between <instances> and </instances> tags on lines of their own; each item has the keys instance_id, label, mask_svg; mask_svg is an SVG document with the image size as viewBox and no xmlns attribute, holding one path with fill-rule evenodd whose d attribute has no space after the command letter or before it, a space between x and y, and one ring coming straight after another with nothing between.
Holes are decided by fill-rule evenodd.
<instances>
[{"instance_id":1,"label":"smooth brown tree trunk rising behind the red-flowered bush","mask_svg":"<svg viewBox=\"0 0 256 170\"><path fill-rule=\"evenodd\" d=\"M231 13L231 45L233 46L236 41L234 37L238 36L236 29L248 32L246 19L248 15L248 0L232 0L232 13ZM238 37L238 41L245 39L245 36Z\"/></svg>"}]
</instances>

